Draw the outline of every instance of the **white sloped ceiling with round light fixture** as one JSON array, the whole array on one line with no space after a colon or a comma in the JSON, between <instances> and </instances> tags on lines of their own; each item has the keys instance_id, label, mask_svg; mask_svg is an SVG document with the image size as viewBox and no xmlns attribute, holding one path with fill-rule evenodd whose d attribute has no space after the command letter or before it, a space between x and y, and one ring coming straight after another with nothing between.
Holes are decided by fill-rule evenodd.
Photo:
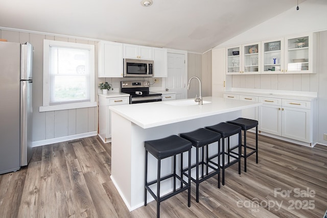
<instances>
[{"instance_id":1,"label":"white sloped ceiling with round light fixture","mask_svg":"<svg viewBox=\"0 0 327 218\"><path fill-rule=\"evenodd\" d=\"M0 0L0 27L204 53L296 5L297 0L153 0L146 8L141 0Z\"/></svg>"}]
</instances>

